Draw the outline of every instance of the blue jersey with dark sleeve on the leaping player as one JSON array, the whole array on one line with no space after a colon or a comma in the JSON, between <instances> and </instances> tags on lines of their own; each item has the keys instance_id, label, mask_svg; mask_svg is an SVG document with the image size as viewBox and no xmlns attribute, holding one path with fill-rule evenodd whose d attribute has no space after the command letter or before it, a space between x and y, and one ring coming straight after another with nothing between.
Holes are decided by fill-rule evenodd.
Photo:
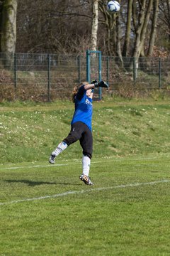
<instances>
[{"instance_id":1,"label":"blue jersey with dark sleeve on the leaping player","mask_svg":"<svg viewBox=\"0 0 170 256\"><path fill-rule=\"evenodd\" d=\"M75 111L71 124L74 124L75 122L83 122L91 130L92 114L92 99L87 97L84 85L82 85L75 97Z\"/></svg>"}]
</instances>

